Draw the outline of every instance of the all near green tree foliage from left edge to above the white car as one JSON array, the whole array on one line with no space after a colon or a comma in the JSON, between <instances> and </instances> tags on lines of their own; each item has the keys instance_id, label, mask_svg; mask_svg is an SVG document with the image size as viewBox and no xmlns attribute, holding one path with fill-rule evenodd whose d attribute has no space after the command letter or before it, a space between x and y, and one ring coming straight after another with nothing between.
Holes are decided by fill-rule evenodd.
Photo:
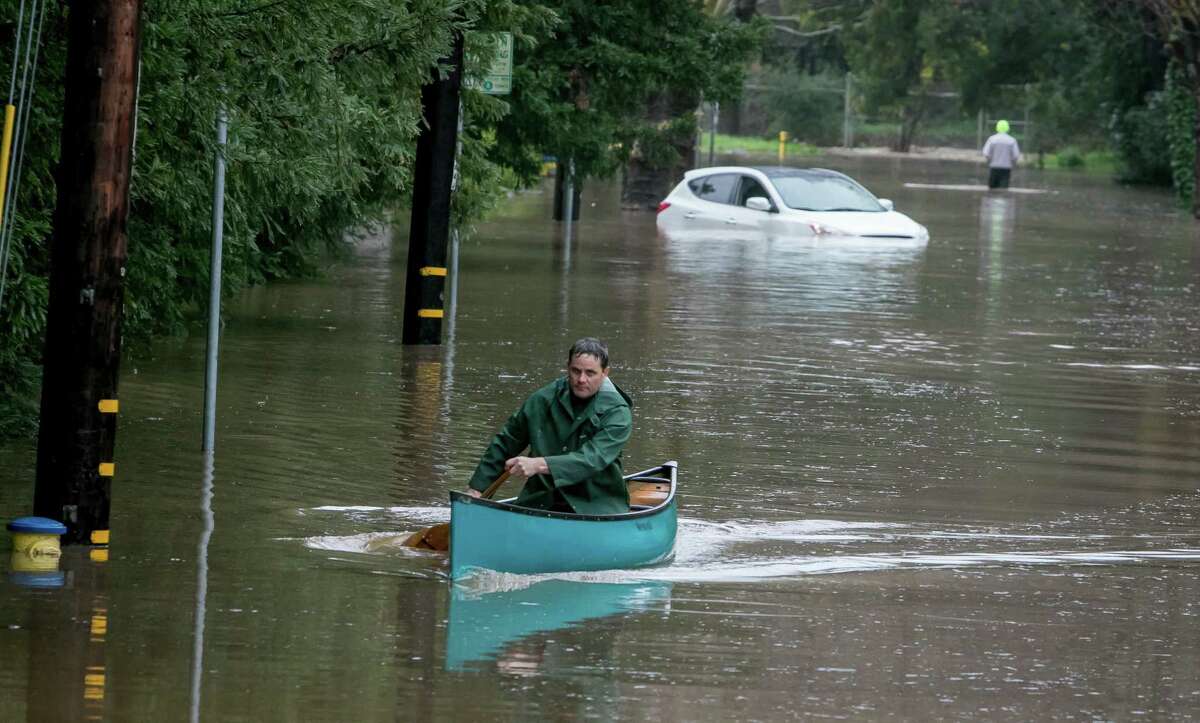
<instances>
[{"instance_id":1,"label":"all near green tree foliage from left edge to above the white car","mask_svg":"<svg viewBox=\"0 0 1200 723\"><path fill-rule=\"evenodd\" d=\"M0 307L0 434L29 429L46 324L52 174L61 132L65 4L52 5ZM17 17L17 0L0 0ZM755 26L691 0L145 0L125 286L127 341L186 330L208 299L215 120L226 149L223 292L313 274L350 234L410 195L420 88L456 31L469 74L487 66L475 31L516 41L515 92L468 90L454 215L480 219L544 154L612 173L629 145L662 150L695 131L688 113L647 125L662 88L732 97ZM12 20L0 23L11 42ZM5 32L7 30L7 32Z\"/></svg>"}]
</instances>

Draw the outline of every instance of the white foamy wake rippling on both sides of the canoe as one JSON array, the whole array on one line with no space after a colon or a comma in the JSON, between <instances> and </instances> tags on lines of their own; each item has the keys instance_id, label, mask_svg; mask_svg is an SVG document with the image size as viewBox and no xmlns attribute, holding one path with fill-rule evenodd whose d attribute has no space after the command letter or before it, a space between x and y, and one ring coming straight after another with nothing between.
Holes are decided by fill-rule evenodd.
<instances>
[{"instance_id":1,"label":"white foamy wake rippling on both sides of the canoe","mask_svg":"<svg viewBox=\"0 0 1200 723\"><path fill-rule=\"evenodd\" d=\"M314 550L412 560L401 543L422 525L445 521L444 507L322 507L389 531L304 538ZM400 531L396 530L400 527ZM427 562L427 561L426 561ZM458 585L476 592L521 590L542 580L580 582L722 582L805 575L979 567L1128 566L1200 562L1200 538L935 528L840 520L726 521L680 519L672 561L648 568L516 575L482 572ZM422 570L427 574L427 570Z\"/></svg>"}]
</instances>

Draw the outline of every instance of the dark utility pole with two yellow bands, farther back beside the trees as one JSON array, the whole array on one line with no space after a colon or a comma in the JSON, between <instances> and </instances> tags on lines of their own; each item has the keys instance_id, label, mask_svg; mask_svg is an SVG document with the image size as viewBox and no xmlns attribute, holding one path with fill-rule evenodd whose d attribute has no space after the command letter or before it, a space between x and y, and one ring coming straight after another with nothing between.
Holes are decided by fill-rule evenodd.
<instances>
[{"instance_id":1,"label":"dark utility pole with two yellow bands, farther back beside the trees","mask_svg":"<svg viewBox=\"0 0 1200 723\"><path fill-rule=\"evenodd\" d=\"M433 77L421 86L425 124L416 141L416 166L413 169L403 343L442 343L446 240L450 238L450 198L461 94L462 34L456 32L450 55L438 62Z\"/></svg>"}]
</instances>

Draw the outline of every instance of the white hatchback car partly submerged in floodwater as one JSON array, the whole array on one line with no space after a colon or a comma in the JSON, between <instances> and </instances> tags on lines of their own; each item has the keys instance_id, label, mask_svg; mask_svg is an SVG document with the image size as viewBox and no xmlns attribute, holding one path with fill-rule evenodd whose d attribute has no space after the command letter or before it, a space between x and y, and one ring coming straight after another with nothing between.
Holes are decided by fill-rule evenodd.
<instances>
[{"instance_id":1,"label":"white hatchback car partly submerged in floodwater","mask_svg":"<svg viewBox=\"0 0 1200 723\"><path fill-rule=\"evenodd\" d=\"M659 204L667 233L924 244L929 231L854 179L824 168L721 166L684 174Z\"/></svg>"}]
</instances>

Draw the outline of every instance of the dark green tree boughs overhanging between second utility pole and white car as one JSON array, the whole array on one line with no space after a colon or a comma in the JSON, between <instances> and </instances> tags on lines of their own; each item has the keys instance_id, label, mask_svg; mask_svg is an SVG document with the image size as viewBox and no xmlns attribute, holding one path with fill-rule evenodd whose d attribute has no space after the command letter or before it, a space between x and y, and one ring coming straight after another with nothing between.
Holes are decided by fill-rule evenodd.
<instances>
[{"instance_id":1,"label":"dark green tree boughs overhanging between second utility pole and white car","mask_svg":"<svg viewBox=\"0 0 1200 723\"><path fill-rule=\"evenodd\" d=\"M668 149L695 137L701 96L734 97L762 35L692 0L538 5L558 18L553 37L518 38L511 113L497 126L496 157L526 183L541 167L530 149L572 159L580 177L611 175L635 147L653 162L678 157Z\"/></svg>"}]
</instances>

